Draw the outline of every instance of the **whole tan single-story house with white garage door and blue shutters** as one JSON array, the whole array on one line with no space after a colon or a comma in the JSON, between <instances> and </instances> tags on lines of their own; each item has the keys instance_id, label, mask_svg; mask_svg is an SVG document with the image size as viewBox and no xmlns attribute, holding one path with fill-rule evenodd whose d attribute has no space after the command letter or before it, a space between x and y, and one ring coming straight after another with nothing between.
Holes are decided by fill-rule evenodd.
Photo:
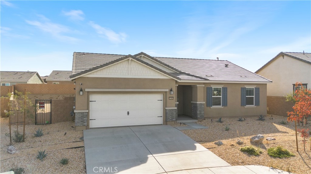
<instances>
[{"instance_id":1,"label":"whole tan single-story house with white garage door and blue shutters","mask_svg":"<svg viewBox=\"0 0 311 174\"><path fill-rule=\"evenodd\" d=\"M225 60L73 53L76 130L267 114L262 76Z\"/></svg>"}]
</instances>

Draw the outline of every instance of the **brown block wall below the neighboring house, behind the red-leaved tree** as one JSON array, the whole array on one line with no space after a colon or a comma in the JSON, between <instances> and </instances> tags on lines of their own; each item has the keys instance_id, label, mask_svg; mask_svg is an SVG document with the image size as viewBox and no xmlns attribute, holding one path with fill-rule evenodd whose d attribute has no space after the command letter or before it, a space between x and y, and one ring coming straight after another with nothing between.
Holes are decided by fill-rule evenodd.
<instances>
[{"instance_id":1,"label":"brown block wall below the neighboring house, behind the red-leaved tree","mask_svg":"<svg viewBox=\"0 0 311 174\"><path fill-rule=\"evenodd\" d=\"M294 103L286 102L285 97L267 96L267 114L287 117L287 112L293 110Z\"/></svg>"}]
</instances>

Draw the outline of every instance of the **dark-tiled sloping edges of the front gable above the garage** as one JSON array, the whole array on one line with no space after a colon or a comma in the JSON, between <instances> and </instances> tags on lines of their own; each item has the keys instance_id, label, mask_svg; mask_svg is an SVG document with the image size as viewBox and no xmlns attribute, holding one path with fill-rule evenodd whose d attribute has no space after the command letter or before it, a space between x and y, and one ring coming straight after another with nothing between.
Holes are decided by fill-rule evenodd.
<instances>
[{"instance_id":1,"label":"dark-tiled sloping edges of the front gable above the garage","mask_svg":"<svg viewBox=\"0 0 311 174\"><path fill-rule=\"evenodd\" d=\"M128 59L128 58L135 59L135 60L137 60L137 61L140 62L140 63L143 63L143 64L145 64L145 65L147 65L147 66L149 66L149 67L151 67L151 68L153 68L153 69L156 69L157 71L160 71L160 72L166 74L167 76L170 76L170 77L173 77L174 79L180 80L179 77L177 77L177 76L175 76L175 75L173 75L173 74L171 74L171 73L169 73L169 72L163 71L163 70L161 70L160 68L155 67L155 66L153 66L153 65L151 65L151 64L149 64L149 63L147 63L147 62L145 62L145 61L142 61L141 59L138 59L137 57L134 57L134 56L132 56L131 54L128 54L127 56L123 56L123 57L121 57L121 58L119 58L119 59L115 59L115 60L110 61L110 62L108 62L108 63L105 63L105 64L102 64L102 65L93 67L93 68L91 68L91 69L88 69L88 70L85 70L85 71L82 71L82 72L78 72L78 73L76 73L76 74L71 75L70 78L74 78L74 77L77 77L77 76L81 76L81 75L83 75L83 74L85 74L85 73L87 73L87 72L92 72L92 71L94 71L94 70L96 70L96 69L109 66L109 65L111 65L111 64L117 63L117 62L119 62L119 61L122 61L122 60L125 60L125 59Z\"/></svg>"}]
</instances>

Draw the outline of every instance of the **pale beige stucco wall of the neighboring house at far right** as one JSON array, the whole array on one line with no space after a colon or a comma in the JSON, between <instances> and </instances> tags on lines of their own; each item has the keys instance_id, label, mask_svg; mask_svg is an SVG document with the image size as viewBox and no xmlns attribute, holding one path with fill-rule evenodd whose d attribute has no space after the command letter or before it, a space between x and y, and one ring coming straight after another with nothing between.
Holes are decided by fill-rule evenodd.
<instances>
[{"instance_id":1,"label":"pale beige stucco wall of the neighboring house at far right","mask_svg":"<svg viewBox=\"0 0 311 174\"><path fill-rule=\"evenodd\" d=\"M267 96L286 96L297 81L311 87L311 64L288 56L280 55L257 74L272 80L267 85Z\"/></svg>"}]
</instances>

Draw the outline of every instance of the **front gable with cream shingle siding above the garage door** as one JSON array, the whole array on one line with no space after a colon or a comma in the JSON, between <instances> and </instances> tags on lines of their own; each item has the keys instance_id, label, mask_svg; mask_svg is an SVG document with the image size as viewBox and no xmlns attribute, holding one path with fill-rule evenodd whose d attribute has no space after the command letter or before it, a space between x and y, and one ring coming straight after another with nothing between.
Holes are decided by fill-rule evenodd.
<instances>
[{"instance_id":1,"label":"front gable with cream shingle siding above the garage door","mask_svg":"<svg viewBox=\"0 0 311 174\"><path fill-rule=\"evenodd\" d=\"M132 55L127 55L114 61L93 67L89 70L74 74L71 79L77 77L119 77L119 78L173 78L180 80L168 72L146 63Z\"/></svg>"}]
</instances>

